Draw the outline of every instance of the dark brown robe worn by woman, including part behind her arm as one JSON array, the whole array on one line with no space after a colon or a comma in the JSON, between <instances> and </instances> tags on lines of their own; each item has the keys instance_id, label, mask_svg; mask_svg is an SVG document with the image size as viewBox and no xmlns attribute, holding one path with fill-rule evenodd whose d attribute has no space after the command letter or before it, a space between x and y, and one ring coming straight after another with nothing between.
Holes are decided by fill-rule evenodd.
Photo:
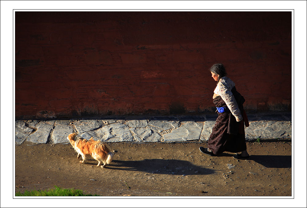
<instances>
[{"instance_id":1,"label":"dark brown robe worn by woman, including part behind her arm","mask_svg":"<svg viewBox=\"0 0 307 208\"><path fill-rule=\"evenodd\" d=\"M246 150L244 123L246 127L249 126L249 124L246 113L243 109L245 99L239 92L237 92L235 87L231 92L238 103L243 120L237 122L229 110L229 112L218 113L218 118L215 121L215 125L212 128L212 133L208 140L208 148L215 155L225 151L238 153ZM213 99L213 103L216 107L227 108L227 105L224 100L222 100L221 96L217 96Z\"/></svg>"}]
</instances>

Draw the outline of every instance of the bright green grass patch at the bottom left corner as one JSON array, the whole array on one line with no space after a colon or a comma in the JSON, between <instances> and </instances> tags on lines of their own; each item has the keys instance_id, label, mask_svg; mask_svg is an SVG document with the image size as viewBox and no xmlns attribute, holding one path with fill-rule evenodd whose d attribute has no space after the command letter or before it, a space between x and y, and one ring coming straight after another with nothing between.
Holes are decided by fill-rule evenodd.
<instances>
[{"instance_id":1,"label":"bright green grass patch at the bottom left corner","mask_svg":"<svg viewBox=\"0 0 307 208\"><path fill-rule=\"evenodd\" d=\"M44 191L25 190L23 193L16 192L15 196L99 196L99 195L84 194L82 190L63 189L55 186L54 189L44 190Z\"/></svg>"}]
</instances>

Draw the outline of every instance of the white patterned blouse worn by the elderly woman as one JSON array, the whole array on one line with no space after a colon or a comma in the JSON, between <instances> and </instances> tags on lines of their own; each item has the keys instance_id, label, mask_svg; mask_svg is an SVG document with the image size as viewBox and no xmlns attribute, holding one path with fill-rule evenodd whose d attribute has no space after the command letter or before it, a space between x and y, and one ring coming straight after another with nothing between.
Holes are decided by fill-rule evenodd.
<instances>
[{"instance_id":1,"label":"white patterned blouse worn by the elderly woman","mask_svg":"<svg viewBox=\"0 0 307 208\"><path fill-rule=\"evenodd\" d=\"M235 84L232 80L230 80L228 77L223 76L218 81L218 84L214 90L215 94L218 94L221 96L221 98L226 103L227 107L229 108L230 112L237 121L243 120L243 117L241 115L241 111L238 107L237 101L234 99L234 96L231 92L232 88L234 88Z\"/></svg>"}]
</instances>

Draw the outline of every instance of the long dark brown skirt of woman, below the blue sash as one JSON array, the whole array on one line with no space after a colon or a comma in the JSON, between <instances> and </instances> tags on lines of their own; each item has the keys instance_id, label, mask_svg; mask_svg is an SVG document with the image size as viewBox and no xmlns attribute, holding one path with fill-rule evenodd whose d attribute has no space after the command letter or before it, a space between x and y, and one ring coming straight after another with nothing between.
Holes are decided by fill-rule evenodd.
<instances>
[{"instance_id":1,"label":"long dark brown skirt of woman, below the blue sash","mask_svg":"<svg viewBox=\"0 0 307 208\"><path fill-rule=\"evenodd\" d=\"M246 150L244 127L238 134L227 133L230 113L218 113L215 125L208 140L208 148L218 155L222 152L238 153ZM240 126L244 125L240 121Z\"/></svg>"}]
</instances>

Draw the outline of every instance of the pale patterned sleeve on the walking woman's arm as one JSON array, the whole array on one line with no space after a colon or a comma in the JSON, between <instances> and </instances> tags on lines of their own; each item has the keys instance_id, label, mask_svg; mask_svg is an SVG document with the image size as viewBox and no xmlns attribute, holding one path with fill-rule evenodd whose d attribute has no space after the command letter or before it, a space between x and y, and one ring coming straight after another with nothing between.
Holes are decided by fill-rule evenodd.
<instances>
[{"instance_id":1,"label":"pale patterned sleeve on the walking woman's arm","mask_svg":"<svg viewBox=\"0 0 307 208\"><path fill-rule=\"evenodd\" d=\"M219 83L218 85L218 95L224 100L232 115L234 115L237 121L243 120L238 103L234 99L232 92L224 84Z\"/></svg>"}]
</instances>

